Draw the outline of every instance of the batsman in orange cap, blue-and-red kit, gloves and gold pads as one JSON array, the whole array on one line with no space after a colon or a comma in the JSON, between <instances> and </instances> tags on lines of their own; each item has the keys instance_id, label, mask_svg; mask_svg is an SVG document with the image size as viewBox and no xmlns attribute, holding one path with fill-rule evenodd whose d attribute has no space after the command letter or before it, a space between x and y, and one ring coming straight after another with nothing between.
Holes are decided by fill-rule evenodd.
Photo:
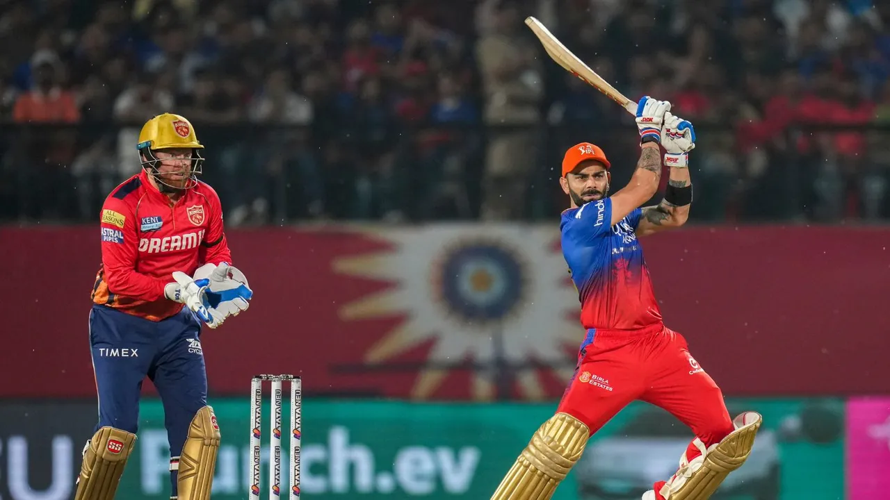
<instances>
[{"instance_id":1,"label":"batsman in orange cap, blue-and-red kit, gloves and gold pads","mask_svg":"<svg viewBox=\"0 0 890 500\"><path fill-rule=\"evenodd\" d=\"M631 401L664 408L688 425L694 439L670 478L643 500L705 500L745 462L761 415L731 419L723 393L692 357L683 335L667 328L637 238L686 222L692 204L688 158L695 131L670 113L670 103L648 96L637 104L641 153L631 180L609 196L611 164L582 142L562 160L562 254L581 302L587 335L578 365L554 416L536 431L492 500L543 500L570 472L587 440ZM664 164L664 199L655 196Z\"/></svg>"}]
</instances>

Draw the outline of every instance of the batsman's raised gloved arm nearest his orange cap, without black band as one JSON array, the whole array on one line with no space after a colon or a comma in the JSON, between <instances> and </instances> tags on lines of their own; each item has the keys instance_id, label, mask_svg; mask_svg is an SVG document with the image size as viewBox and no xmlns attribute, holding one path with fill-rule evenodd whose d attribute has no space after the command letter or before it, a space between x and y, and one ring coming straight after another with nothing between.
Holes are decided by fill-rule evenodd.
<instances>
[{"instance_id":1,"label":"batsman's raised gloved arm nearest his orange cap, without black band","mask_svg":"<svg viewBox=\"0 0 890 500\"><path fill-rule=\"evenodd\" d=\"M643 96L636 106L636 127L640 132L640 159L627 186L613 194L611 224L614 226L628 214L649 201L659 190L661 181L661 124L670 102Z\"/></svg>"}]
</instances>

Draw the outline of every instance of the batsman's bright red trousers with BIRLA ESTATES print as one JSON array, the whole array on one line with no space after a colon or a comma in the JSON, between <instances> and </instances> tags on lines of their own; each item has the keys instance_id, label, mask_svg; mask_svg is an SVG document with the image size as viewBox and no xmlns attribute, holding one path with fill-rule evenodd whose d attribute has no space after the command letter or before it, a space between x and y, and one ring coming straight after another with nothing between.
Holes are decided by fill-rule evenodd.
<instances>
[{"instance_id":1,"label":"batsman's bright red trousers with BIRLA ESTATES print","mask_svg":"<svg viewBox=\"0 0 890 500\"><path fill-rule=\"evenodd\" d=\"M592 332L557 412L578 418L593 434L641 399L676 416L706 447L732 432L723 392L692 358L683 335L663 325Z\"/></svg>"}]
</instances>

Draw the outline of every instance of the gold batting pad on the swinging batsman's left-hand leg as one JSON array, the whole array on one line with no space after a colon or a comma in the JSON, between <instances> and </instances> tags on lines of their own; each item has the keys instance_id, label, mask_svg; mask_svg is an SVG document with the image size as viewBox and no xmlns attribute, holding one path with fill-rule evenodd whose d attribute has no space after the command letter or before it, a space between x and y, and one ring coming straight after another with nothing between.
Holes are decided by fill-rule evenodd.
<instances>
[{"instance_id":1,"label":"gold batting pad on the swinging batsman's left-hand leg","mask_svg":"<svg viewBox=\"0 0 890 500\"><path fill-rule=\"evenodd\" d=\"M578 462L590 430L566 413L538 428L491 500L547 500Z\"/></svg>"}]
</instances>

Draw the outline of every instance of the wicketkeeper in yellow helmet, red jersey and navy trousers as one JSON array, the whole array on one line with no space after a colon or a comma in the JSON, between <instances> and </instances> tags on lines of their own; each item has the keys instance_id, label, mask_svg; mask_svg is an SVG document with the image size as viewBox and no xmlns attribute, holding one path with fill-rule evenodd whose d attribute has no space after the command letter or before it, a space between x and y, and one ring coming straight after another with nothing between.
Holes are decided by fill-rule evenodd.
<instances>
[{"instance_id":1,"label":"wicketkeeper in yellow helmet, red jersey and navy trousers","mask_svg":"<svg viewBox=\"0 0 890 500\"><path fill-rule=\"evenodd\" d=\"M76 500L110 500L136 444L142 381L164 405L171 498L207 500L220 430L207 405L201 327L247 310L253 292L231 266L216 192L189 120L151 118L136 145L141 172L101 209L90 347L99 422L87 440Z\"/></svg>"}]
</instances>

